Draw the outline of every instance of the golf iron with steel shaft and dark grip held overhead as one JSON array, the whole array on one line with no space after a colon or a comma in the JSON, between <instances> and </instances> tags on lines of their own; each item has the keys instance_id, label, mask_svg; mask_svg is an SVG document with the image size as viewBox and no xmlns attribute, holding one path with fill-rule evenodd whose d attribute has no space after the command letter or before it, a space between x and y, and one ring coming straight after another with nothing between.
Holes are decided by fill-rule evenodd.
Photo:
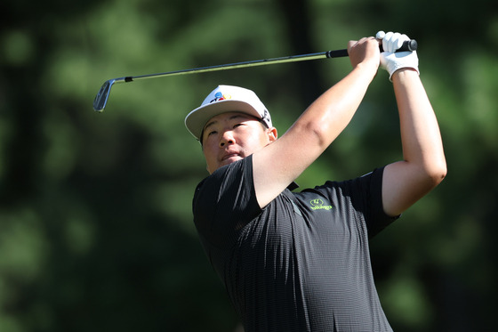
<instances>
[{"instance_id":1,"label":"golf iron with steel shaft and dark grip held overhead","mask_svg":"<svg viewBox=\"0 0 498 332\"><path fill-rule=\"evenodd\" d=\"M397 52L416 51L417 47L418 47L417 42L414 39L412 39L412 40L406 41L403 44L403 46L401 46L401 48L398 49ZM381 52L382 52L382 45L381 45ZM236 62L236 63L229 63L229 64L218 65L218 66L211 66L211 67L201 67L201 68L195 68L195 69L183 69L183 70L169 71L169 72L158 73L158 74L112 78L112 79L109 79L106 82L104 82L102 87L100 87L99 93L97 93L97 95L95 96L95 99L93 100L93 109L95 111L98 111L98 112L102 112L105 109L105 107L108 103L110 89L111 89L112 85L114 85L116 83L133 82L133 81L136 81L139 79L151 78L151 77L169 77L169 76L175 76L175 75L186 75L186 74L195 74L195 73L198 74L198 73L205 73L205 72L209 72L209 71L218 71L218 70L227 70L227 69L241 69L241 68L248 68L248 67L264 66L264 65L269 65L269 64L277 64L277 63L309 61L309 60L328 59L328 58L340 58L340 57L347 57L347 56L348 56L348 50L343 49L343 50L336 50L336 51L326 51L326 52L321 52L321 53L291 55L291 56L286 56L286 57L281 57L281 58L273 58L273 59Z\"/></svg>"}]
</instances>

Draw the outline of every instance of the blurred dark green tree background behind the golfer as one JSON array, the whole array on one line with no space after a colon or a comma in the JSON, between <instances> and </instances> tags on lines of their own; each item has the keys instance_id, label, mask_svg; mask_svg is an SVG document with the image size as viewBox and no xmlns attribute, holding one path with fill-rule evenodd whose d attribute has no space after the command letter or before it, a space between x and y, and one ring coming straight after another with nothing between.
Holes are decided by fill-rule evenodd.
<instances>
[{"instance_id":1,"label":"blurred dark green tree background behind the golfer","mask_svg":"<svg viewBox=\"0 0 498 332\"><path fill-rule=\"evenodd\" d=\"M397 331L495 327L498 12L488 1L4 0L0 11L1 332L235 331L192 224L207 173L183 118L216 85L241 85L283 134L348 58L116 85L103 114L92 100L109 78L341 49L380 29L419 42L449 171L372 241L382 305ZM400 158L380 71L298 182Z\"/></svg>"}]
</instances>

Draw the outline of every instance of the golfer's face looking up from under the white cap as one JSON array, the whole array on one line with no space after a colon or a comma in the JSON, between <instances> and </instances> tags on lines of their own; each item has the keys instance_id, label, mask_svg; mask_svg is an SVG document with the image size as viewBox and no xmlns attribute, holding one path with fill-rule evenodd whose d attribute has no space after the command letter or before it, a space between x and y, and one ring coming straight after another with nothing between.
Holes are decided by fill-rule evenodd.
<instances>
[{"instance_id":1,"label":"golfer's face looking up from under the white cap","mask_svg":"<svg viewBox=\"0 0 498 332\"><path fill-rule=\"evenodd\" d=\"M277 139L277 129L264 128L245 113L229 112L212 117L204 127L203 152L207 171L243 159Z\"/></svg>"}]
</instances>

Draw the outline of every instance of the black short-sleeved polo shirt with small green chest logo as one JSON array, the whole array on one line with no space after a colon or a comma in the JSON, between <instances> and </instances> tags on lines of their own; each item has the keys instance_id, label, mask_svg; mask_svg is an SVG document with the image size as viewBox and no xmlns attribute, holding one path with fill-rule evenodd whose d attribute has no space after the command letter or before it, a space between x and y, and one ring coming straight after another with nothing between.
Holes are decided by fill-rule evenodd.
<instances>
[{"instance_id":1,"label":"black short-sleeved polo shirt with small green chest logo","mask_svg":"<svg viewBox=\"0 0 498 332\"><path fill-rule=\"evenodd\" d=\"M382 210L382 172L284 190L263 209L252 157L199 183L194 222L245 332L391 331L368 250L395 219Z\"/></svg>"}]
</instances>

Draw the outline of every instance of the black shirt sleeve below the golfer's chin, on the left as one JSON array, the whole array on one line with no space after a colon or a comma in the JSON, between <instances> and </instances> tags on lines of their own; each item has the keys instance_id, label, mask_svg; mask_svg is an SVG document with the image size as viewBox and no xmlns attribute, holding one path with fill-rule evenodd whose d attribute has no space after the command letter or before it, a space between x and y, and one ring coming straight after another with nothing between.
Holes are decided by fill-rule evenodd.
<instances>
[{"instance_id":1,"label":"black shirt sleeve below the golfer's chin, on the left","mask_svg":"<svg viewBox=\"0 0 498 332\"><path fill-rule=\"evenodd\" d=\"M253 158L221 167L197 186L194 223L209 246L233 246L238 232L261 213L253 185Z\"/></svg>"}]
</instances>

